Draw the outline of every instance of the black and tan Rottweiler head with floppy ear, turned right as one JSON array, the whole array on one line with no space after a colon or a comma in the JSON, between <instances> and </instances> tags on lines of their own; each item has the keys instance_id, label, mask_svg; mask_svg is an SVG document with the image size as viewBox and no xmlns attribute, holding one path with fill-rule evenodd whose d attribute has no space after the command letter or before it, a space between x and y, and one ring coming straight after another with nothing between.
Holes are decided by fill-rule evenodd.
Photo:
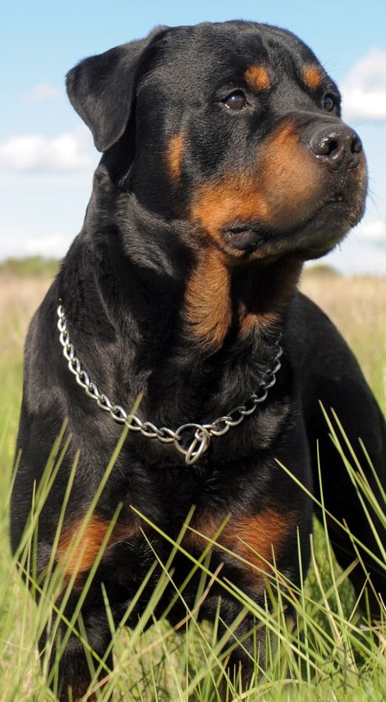
<instances>
[{"instance_id":1,"label":"black and tan Rottweiler head with floppy ear, turned right","mask_svg":"<svg viewBox=\"0 0 386 702\"><path fill-rule=\"evenodd\" d=\"M81 62L67 90L114 182L230 263L317 258L364 212L338 88L283 29L160 28Z\"/></svg>"}]
</instances>

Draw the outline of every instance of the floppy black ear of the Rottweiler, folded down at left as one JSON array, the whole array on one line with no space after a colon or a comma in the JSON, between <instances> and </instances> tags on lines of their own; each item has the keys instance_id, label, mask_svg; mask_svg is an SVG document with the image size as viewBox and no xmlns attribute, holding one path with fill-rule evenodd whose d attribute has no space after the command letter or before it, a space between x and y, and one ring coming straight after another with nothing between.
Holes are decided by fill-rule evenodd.
<instances>
[{"instance_id":1,"label":"floppy black ear of the Rottweiler, folded down at left","mask_svg":"<svg viewBox=\"0 0 386 702\"><path fill-rule=\"evenodd\" d=\"M106 151L124 133L147 48L164 29L157 27L147 39L85 58L67 73L69 100L91 129L99 151Z\"/></svg>"}]
</instances>

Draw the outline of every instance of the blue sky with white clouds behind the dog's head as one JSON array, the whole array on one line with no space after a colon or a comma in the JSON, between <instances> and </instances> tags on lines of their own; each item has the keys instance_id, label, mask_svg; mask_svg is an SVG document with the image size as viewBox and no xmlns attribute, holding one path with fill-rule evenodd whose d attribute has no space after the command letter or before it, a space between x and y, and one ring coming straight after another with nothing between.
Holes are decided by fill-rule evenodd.
<instances>
[{"instance_id":1,"label":"blue sky with white clouds behind the dog's head","mask_svg":"<svg viewBox=\"0 0 386 702\"><path fill-rule=\"evenodd\" d=\"M370 195L362 223L324 259L386 274L386 3L380 0L8 0L1 11L0 260L62 257L83 223L100 154L65 95L81 58L157 25L241 18L291 29L338 83L364 142Z\"/></svg>"}]
</instances>

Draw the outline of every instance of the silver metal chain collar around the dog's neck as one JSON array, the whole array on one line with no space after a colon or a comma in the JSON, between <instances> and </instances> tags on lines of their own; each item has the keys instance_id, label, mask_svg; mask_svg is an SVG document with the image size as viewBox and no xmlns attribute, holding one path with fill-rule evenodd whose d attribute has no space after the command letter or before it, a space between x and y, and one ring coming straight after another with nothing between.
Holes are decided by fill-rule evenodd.
<instances>
[{"instance_id":1,"label":"silver metal chain collar around the dog's neck","mask_svg":"<svg viewBox=\"0 0 386 702\"><path fill-rule=\"evenodd\" d=\"M126 424L133 432L140 432L149 439L158 439L162 444L174 444L175 449L185 456L185 463L192 465L208 449L212 437L220 437L226 434L231 427L235 427L244 420L246 416L253 414L258 404L265 401L269 388L276 383L276 376L281 368L280 358L283 350L277 341L276 351L272 357L269 368L264 373L263 380L260 381L259 389L248 397L246 404L231 409L225 416L215 419L211 424L182 424L173 431L166 427L160 429L151 422L142 422L138 416L126 412L119 404L111 402L104 392L100 392L98 386L91 380L88 373L82 368L81 362L75 355L74 345L69 338L67 330L67 319L62 305L58 307L58 329L60 331L59 340L63 347L63 355L68 362L68 368L75 376L76 383L81 386L88 397L95 400L100 409L109 412L115 422ZM193 438L192 438L193 435Z\"/></svg>"}]
</instances>

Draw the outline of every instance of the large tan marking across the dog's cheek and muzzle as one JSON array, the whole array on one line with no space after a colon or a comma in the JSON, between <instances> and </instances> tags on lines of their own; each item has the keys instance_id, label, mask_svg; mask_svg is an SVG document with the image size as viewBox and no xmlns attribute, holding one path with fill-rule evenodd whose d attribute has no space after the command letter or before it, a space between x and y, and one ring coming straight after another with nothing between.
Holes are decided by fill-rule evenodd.
<instances>
[{"instance_id":1,"label":"large tan marking across the dog's cheek and muzzle","mask_svg":"<svg viewBox=\"0 0 386 702\"><path fill-rule=\"evenodd\" d=\"M225 232L233 227L260 224L288 232L305 223L325 185L326 168L300 143L295 124L286 121L256 151L254 165L198 187L189 216L228 250ZM269 244L263 251L269 254Z\"/></svg>"}]
</instances>

